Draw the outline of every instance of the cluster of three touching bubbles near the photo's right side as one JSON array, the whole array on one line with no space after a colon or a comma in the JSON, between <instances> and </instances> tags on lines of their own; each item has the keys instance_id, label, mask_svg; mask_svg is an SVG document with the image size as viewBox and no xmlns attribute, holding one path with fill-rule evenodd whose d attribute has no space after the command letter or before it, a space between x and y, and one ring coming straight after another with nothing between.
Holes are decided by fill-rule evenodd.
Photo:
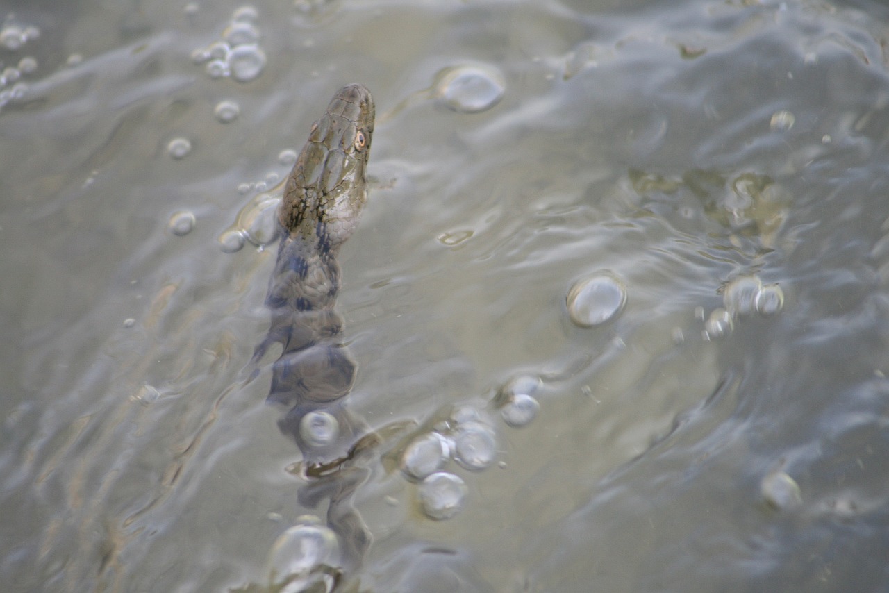
<instances>
[{"instance_id":1,"label":"cluster of three touching bubbles near the photo's right side","mask_svg":"<svg viewBox=\"0 0 889 593\"><path fill-rule=\"evenodd\" d=\"M772 316L784 307L784 292L778 284L763 284L758 276L738 276L723 291L723 307L714 309L704 323L704 334L712 340L732 333L734 320L754 314Z\"/></svg>"}]
</instances>

